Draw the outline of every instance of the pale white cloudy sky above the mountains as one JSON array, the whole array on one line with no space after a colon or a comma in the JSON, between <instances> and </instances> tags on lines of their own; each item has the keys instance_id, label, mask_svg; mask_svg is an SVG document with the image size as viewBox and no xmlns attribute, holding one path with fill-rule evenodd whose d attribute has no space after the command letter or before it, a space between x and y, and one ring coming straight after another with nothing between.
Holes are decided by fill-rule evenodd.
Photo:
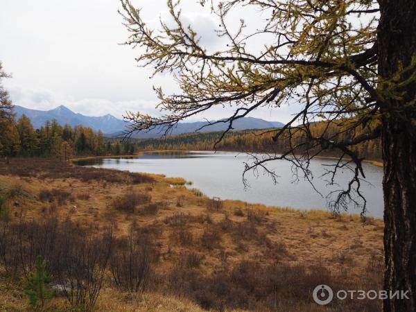
<instances>
[{"instance_id":1,"label":"pale white cloudy sky above the mountains","mask_svg":"<svg viewBox=\"0 0 416 312\"><path fill-rule=\"evenodd\" d=\"M165 0L132 1L141 7L148 24L166 18ZM1 0L0 61L12 78L3 80L16 105L49 110L66 105L88 116L155 110L153 85L177 90L171 76L149 79L150 71L137 67L139 51L121 43L128 36L117 13L119 0ZM184 21L208 46L220 44L218 26L208 8L196 0L182 1ZM249 19L251 13L246 12ZM217 109L199 119L219 119L229 111ZM252 116L288 121L290 110L263 109Z\"/></svg>"}]
</instances>

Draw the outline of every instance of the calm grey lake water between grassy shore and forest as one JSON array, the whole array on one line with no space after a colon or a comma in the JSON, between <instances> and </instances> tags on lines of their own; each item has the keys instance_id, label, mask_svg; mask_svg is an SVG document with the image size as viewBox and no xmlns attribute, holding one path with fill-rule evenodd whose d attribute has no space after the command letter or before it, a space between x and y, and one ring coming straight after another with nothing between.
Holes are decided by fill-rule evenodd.
<instances>
[{"instance_id":1,"label":"calm grey lake water between grassy shore and forest","mask_svg":"<svg viewBox=\"0 0 416 312\"><path fill-rule=\"evenodd\" d=\"M183 177L192 181L195 187L207 196L223 199L243 200L270 206L293 207L297 209L327 209L327 196L331 191L347 187L352 176L351 171L340 171L336 182L340 187L327 187L320 177L324 168L334 164L332 159L315 159L311 163L314 174L313 183L322 193L320 196L309 182L293 182L291 165L286 161L271 162L268 168L274 168L279 175L277 184L259 171L258 175L248 173L248 184L243 185L244 162L250 157L244 153L211 152L162 152L145 153L131 158L104 158L80 161L80 166L114 168L132 172L159 173L167 177ZM383 169L372 164L363 164L366 182L362 182L362 193L367 199L367 216L383 217L383 193L381 182ZM360 213L352 206L349 212Z\"/></svg>"}]
</instances>

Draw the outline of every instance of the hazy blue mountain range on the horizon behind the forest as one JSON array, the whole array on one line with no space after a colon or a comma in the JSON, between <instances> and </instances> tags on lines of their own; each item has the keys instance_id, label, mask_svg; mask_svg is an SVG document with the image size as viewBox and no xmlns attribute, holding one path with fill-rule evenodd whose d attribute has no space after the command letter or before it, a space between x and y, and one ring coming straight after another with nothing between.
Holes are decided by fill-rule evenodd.
<instances>
[{"instance_id":1,"label":"hazy blue mountain range on the horizon behind the forest","mask_svg":"<svg viewBox=\"0 0 416 312\"><path fill-rule=\"evenodd\" d=\"M45 121L55 119L60 125L69 124L72 126L75 125L84 125L85 127L93 128L98 131L101 130L107 137L112 137L120 135L125 128L125 121L117 119L116 117L107 114L105 116L85 116L76 112L72 112L69 108L61 105L53 110L31 110L26 107L15 105L15 112L17 119L20 118L22 114L28 116L31 119L33 126L35 128L40 128L44 125ZM211 123L213 121L210 121ZM207 125L208 121L196 121L190 123L178 123L177 126L173 129L171 135L180 135L183 133L195 132L203 125ZM267 128L280 128L284 123L279 121L266 121L263 119L258 119L254 117L244 117L237 119L233 123L234 130L247 130L247 129L267 129ZM221 131L227 129L227 123L216 123L215 125L208 125L203 128L202 132L208 131ZM136 138L154 138L161 137L162 133L158 129L151 130L149 132L136 132L133 137Z\"/></svg>"}]
</instances>

